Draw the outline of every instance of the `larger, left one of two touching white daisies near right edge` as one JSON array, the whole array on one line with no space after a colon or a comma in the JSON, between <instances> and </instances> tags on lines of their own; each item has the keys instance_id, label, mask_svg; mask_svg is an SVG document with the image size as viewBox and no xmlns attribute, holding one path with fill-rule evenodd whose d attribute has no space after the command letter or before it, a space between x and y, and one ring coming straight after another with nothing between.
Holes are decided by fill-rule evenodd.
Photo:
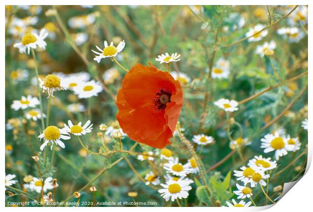
<instances>
[{"instance_id":1,"label":"larger, left one of two touching white daisies near right edge","mask_svg":"<svg viewBox=\"0 0 313 212\"><path fill-rule=\"evenodd\" d=\"M264 138L261 138L261 148L264 149L264 153L268 153L271 151L275 151L275 158L279 160L279 157L286 155L291 151L294 145L290 145L287 143L287 140L279 135L279 133L275 132L275 134L267 134Z\"/></svg>"}]
</instances>

